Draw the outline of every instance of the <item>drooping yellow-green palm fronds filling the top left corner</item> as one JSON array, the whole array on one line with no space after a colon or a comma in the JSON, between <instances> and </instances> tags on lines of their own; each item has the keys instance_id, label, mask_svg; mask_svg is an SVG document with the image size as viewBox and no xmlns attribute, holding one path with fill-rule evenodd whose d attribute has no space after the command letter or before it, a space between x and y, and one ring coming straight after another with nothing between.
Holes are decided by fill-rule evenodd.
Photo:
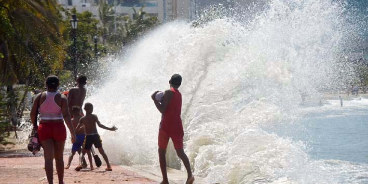
<instances>
[{"instance_id":1,"label":"drooping yellow-green palm fronds filling the top left corner","mask_svg":"<svg viewBox=\"0 0 368 184\"><path fill-rule=\"evenodd\" d=\"M62 69L60 18L55 0L0 1L0 82L41 87Z\"/></svg>"}]
</instances>

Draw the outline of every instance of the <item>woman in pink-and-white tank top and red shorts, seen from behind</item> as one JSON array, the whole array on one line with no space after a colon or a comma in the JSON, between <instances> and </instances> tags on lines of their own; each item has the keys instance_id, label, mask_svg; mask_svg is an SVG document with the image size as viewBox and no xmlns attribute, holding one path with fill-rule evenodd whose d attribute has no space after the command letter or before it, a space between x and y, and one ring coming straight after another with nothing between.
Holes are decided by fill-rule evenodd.
<instances>
[{"instance_id":1,"label":"woman in pink-and-white tank top and red shorts, seen from behind","mask_svg":"<svg viewBox=\"0 0 368 184\"><path fill-rule=\"evenodd\" d=\"M53 184L53 160L55 159L59 184L64 184L64 145L67 138L67 131L64 125L66 122L71 132L71 140L75 140L74 128L68 110L68 99L57 92L59 78L49 76L46 79L47 91L36 96L31 110L31 120L33 128L37 128L38 139L41 142L44 158L47 181ZM40 125L35 122L37 108L40 112Z\"/></svg>"}]
</instances>

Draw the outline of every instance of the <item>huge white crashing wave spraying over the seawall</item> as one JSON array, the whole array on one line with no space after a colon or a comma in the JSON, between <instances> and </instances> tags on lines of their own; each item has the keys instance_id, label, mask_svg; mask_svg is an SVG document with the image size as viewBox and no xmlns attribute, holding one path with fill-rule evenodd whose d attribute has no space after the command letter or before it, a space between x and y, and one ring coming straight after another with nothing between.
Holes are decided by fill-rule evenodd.
<instances>
[{"instance_id":1,"label":"huge white crashing wave spraying over the seawall","mask_svg":"<svg viewBox=\"0 0 368 184\"><path fill-rule=\"evenodd\" d=\"M229 184L362 183L366 166L311 160L302 142L262 130L300 117L301 94L346 82L341 58L354 25L345 11L330 1L274 0L246 24L223 18L161 26L87 100L102 123L119 127L102 136L109 157L158 163L160 114L151 94L180 73L185 151L195 174ZM167 159L181 167L173 146Z\"/></svg>"}]
</instances>

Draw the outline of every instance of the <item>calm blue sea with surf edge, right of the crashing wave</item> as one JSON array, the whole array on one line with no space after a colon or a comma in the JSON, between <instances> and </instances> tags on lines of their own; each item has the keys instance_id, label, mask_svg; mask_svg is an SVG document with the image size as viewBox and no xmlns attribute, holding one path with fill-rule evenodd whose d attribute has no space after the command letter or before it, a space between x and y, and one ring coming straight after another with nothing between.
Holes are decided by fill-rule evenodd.
<instances>
[{"instance_id":1,"label":"calm blue sea with surf edge, right of the crashing wave","mask_svg":"<svg viewBox=\"0 0 368 184\"><path fill-rule=\"evenodd\" d=\"M338 99L328 100L305 108L303 117L289 127L265 129L307 143L313 159L368 164L368 99L360 98L344 100L343 107Z\"/></svg>"}]
</instances>

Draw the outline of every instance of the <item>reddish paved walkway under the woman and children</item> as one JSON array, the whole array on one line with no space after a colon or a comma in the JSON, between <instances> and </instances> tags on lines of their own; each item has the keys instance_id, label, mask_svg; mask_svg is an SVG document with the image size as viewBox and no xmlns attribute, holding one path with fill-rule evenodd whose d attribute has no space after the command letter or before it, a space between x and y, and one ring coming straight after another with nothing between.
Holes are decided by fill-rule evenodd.
<instances>
[{"instance_id":1,"label":"reddish paved walkway under the woman and children","mask_svg":"<svg viewBox=\"0 0 368 184\"><path fill-rule=\"evenodd\" d=\"M64 162L66 160L67 156L64 157ZM0 158L0 183L47 184L43 164L43 157ZM84 169L77 172L74 170L76 165L77 157L74 158L72 167L64 170L64 182L66 184L158 184L156 181L120 166L112 166L113 171L105 171L106 165L102 165L93 171ZM57 184L55 169L54 183Z\"/></svg>"}]
</instances>

